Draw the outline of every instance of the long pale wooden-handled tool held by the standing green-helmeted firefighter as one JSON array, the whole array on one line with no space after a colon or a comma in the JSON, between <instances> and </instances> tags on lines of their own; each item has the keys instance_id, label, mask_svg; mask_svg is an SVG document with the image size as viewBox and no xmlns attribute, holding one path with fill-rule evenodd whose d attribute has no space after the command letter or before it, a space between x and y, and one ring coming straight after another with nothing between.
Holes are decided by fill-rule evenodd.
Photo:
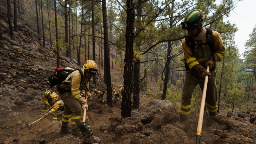
<instances>
[{"instance_id":1,"label":"long pale wooden-handled tool held by the standing green-helmeted firefighter","mask_svg":"<svg viewBox=\"0 0 256 144\"><path fill-rule=\"evenodd\" d=\"M207 66L207 68L206 68L207 72L209 72L209 69L210 69L209 66ZM198 124L197 124L197 131L196 131L196 144L199 144L200 139L201 139L208 77L209 76L206 75L205 79L204 79L204 90L203 90L203 96L202 96L202 100L201 100L201 106L200 106L200 112L199 112L199 118L198 118Z\"/></svg>"}]
</instances>

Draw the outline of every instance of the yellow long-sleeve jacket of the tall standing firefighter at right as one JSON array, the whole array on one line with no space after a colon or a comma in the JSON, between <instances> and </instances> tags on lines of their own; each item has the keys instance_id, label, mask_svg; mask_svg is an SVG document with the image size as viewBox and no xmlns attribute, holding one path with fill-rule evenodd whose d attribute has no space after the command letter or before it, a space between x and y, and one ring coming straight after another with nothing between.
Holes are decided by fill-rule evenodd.
<instances>
[{"instance_id":1,"label":"yellow long-sleeve jacket of the tall standing firefighter at right","mask_svg":"<svg viewBox=\"0 0 256 144\"><path fill-rule=\"evenodd\" d=\"M207 43L206 36L200 41L195 40L195 44ZM221 36L218 32L212 31L212 43L214 49L214 57L216 61L220 61L225 53L225 46L222 42ZM212 51L208 45L196 45L194 48L194 54L191 51L189 45L186 45L186 40L182 41L182 49L189 68L194 67L197 64L205 65L206 62L212 56Z\"/></svg>"}]
</instances>

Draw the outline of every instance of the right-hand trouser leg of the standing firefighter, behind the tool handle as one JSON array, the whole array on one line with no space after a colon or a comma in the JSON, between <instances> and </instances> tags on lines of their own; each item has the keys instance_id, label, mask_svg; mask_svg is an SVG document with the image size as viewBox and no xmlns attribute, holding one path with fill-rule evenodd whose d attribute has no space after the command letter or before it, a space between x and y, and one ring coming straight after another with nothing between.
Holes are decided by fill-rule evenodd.
<instances>
[{"instance_id":1,"label":"right-hand trouser leg of the standing firefighter, behind the tool handle","mask_svg":"<svg viewBox=\"0 0 256 144\"><path fill-rule=\"evenodd\" d=\"M200 81L200 87L203 91L204 80ZM206 89L206 98L205 105L206 109L210 114L217 113L218 110L218 97L217 97L217 85L216 85L216 71L211 70L211 79L208 79L207 89Z\"/></svg>"}]
</instances>

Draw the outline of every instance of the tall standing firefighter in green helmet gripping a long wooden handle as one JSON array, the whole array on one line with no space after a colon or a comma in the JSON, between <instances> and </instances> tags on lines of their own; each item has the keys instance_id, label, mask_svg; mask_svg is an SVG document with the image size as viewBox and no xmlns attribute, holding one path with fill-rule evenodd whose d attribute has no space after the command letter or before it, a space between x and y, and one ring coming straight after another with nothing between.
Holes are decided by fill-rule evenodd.
<instances>
[{"instance_id":1,"label":"tall standing firefighter in green helmet gripping a long wooden handle","mask_svg":"<svg viewBox=\"0 0 256 144\"><path fill-rule=\"evenodd\" d=\"M179 111L180 121L177 123L177 127L181 130L185 129L187 116L190 114L192 93L197 84L203 91L206 75L209 76L205 100L206 109L211 116L216 116L218 110L215 62L222 59L225 47L218 32L203 27L204 20L204 12L192 10L181 22L181 28L188 31L188 35L182 41L186 75ZM209 72L206 70L208 65Z\"/></svg>"}]
</instances>

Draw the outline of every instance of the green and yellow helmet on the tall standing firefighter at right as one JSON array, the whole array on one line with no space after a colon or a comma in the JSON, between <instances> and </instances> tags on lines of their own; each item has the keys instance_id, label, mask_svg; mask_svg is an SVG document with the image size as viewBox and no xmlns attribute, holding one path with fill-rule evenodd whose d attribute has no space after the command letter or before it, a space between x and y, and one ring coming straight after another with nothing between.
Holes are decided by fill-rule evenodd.
<instances>
[{"instance_id":1,"label":"green and yellow helmet on the tall standing firefighter at right","mask_svg":"<svg viewBox=\"0 0 256 144\"><path fill-rule=\"evenodd\" d=\"M205 18L205 13L201 10L192 10L185 17L184 21L181 22L182 29L189 29L200 25Z\"/></svg>"}]
</instances>

